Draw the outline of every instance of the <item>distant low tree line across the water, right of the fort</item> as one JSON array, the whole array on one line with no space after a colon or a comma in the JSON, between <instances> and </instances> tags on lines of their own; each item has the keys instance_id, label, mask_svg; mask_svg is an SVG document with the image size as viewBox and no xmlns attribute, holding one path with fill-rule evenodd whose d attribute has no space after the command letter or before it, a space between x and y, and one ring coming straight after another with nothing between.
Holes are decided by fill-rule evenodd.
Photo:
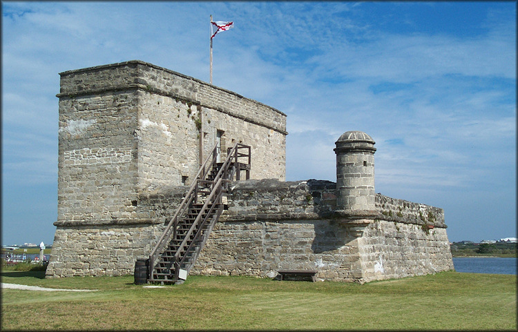
<instances>
[{"instance_id":1,"label":"distant low tree line across the water, right of the fort","mask_svg":"<svg viewBox=\"0 0 518 332\"><path fill-rule=\"evenodd\" d=\"M517 257L518 244L509 242L462 243L453 242L450 246L453 256L498 256Z\"/></svg>"}]
</instances>

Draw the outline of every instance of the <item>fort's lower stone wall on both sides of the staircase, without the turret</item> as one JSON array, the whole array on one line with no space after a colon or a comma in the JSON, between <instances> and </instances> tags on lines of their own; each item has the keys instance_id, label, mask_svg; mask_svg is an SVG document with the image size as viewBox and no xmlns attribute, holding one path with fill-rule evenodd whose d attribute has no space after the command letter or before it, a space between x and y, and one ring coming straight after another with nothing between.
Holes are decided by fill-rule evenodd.
<instances>
[{"instance_id":1,"label":"fort's lower stone wall on both sides of the staircase, without the turret","mask_svg":"<svg viewBox=\"0 0 518 332\"><path fill-rule=\"evenodd\" d=\"M150 225L59 227L53 246L59 262L47 275L133 273L186 189L140 195ZM440 208L376 194L378 215L358 226L334 214L336 184L312 179L234 182L227 200L191 275L275 277L280 269L315 269L320 280L363 283L453 268Z\"/></svg>"}]
</instances>

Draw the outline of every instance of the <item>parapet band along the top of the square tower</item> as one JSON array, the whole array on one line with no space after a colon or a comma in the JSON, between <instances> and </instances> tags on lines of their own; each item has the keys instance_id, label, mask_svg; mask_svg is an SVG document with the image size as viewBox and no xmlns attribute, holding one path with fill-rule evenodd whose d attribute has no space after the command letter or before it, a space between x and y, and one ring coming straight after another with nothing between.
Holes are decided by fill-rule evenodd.
<instances>
[{"instance_id":1,"label":"parapet band along the top of the square tower","mask_svg":"<svg viewBox=\"0 0 518 332\"><path fill-rule=\"evenodd\" d=\"M145 90L207 107L253 124L287 134L286 115L258 101L218 88L199 79L182 75L140 60L77 70L61 75L57 97L98 95L104 92Z\"/></svg>"}]
</instances>

